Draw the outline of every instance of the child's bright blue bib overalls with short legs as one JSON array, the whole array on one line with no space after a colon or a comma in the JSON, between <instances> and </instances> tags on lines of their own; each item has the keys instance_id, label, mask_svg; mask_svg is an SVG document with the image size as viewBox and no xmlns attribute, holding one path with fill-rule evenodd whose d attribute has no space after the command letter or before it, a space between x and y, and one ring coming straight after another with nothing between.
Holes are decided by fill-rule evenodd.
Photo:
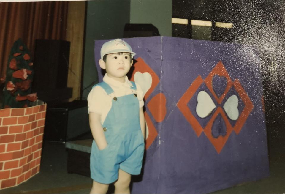
<instances>
[{"instance_id":1,"label":"child's bright blue bib overalls with short legs","mask_svg":"<svg viewBox=\"0 0 285 194\"><path fill-rule=\"evenodd\" d=\"M136 85L131 83L134 94L114 97L112 107L102 125L107 147L99 150L94 140L92 143L91 178L99 183L109 184L116 181L119 168L134 175L140 174L142 168L145 146L140 128ZM101 86L107 95L114 92L104 81L95 86Z\"/></svg>"}]
</instances>

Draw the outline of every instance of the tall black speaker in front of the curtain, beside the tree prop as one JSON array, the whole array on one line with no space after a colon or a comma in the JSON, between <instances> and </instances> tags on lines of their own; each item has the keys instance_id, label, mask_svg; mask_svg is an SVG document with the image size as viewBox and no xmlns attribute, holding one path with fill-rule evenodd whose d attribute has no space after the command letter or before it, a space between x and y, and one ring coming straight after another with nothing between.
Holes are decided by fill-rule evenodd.
<instances>
[{"instance_id":1,"label":"tall black speaker in front of the curtain, beside the tree prop","mask_svg":"<svg viewBox=\"0 0 285 194\"><path fill-rule=\"evenodd\" d=\"M67 88L70 42L37 39L34 54L32 91L45 102L72 97Z\"/></svg>"}]
</instances>

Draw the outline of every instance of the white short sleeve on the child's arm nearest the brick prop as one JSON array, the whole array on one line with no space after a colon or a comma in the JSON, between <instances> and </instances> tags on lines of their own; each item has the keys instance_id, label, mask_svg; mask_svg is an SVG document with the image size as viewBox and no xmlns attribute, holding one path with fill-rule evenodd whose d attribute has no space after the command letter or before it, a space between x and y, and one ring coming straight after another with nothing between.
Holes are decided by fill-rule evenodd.
<instances>
[{"instance_id":1,"label":"white short sleeve on the child's arm nearest the brick prop","mask_svg":"<svg viewBox=\"0 0 285 194\"><path fill-rule=\"evenodd\" d=\"M88 114L94 112L101 115L105 105L106 96L107 94L102 87L95 86L92 88L87 97Z\"/></svg>"}]
</instances>

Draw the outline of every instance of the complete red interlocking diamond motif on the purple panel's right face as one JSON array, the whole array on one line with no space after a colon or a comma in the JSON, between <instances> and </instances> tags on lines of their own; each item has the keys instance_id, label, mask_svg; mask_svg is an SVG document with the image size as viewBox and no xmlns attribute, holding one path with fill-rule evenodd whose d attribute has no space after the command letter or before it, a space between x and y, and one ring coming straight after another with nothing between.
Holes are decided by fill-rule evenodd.
<instances>
[{"instance_id":1,"label":"complete red interlocking diamond motif on the purple panel's right face","mask_svg":"<svg viewBox=\"0 0 285 194\"><path fill-rule=\"evenodd\" d=\"M227 86L226 86L224 93L221 95L221 97L218 97L213 90L212 81L213 81L214 75L224 76L227 79ZM221 61L219 61L219 63L213 68L213 70L209 73L207 78L205 78L204 82L219 104L221 104L224 97L229 92L229 89L232 86L234 86L235 90L238 92L241 100L243 100L243 103L245 105L245 107L243 108L243 111L240 113L238 120L235 123L234 127L232 127L232 125L230 124L224 110L221 107L218 107L216 109L216 111L213 113L213 115L212 115L210 121L207 123L206 127L203 129L202 126L200 125L200 123L197 121L197 119L191 113L191 110L189 109L189 107L187 106L188 102L191 100L194 93L197 91L197 89L203 83L203 79L200 75L193 81L191 86L186 90L186 92L183 94L181 99L178 101L177 107L179 108L181 113L184 115L186 120L191 124L196 135L199 137L201 135L202 131L204 131L205 135L208 137L210 142L213 144L216 151L218 153L220 153L221 150L223 149L225 143L227 142L229 135L232 133L232 130L235 130L236 134L240 133L240 130L242 129L244 123L246 122L246 119L248 118L248 116L249 116L249 114L252 111L254 106L253 106L250 98L246 94L245 90L241 86L240 82L238 81L238 79L236 79L234 82L232 82L226 68L224 67L224 65ZM216 117L219 114L221 114L222 118L224 119L224 122L225 122L226 128L227 128L227 133L224 137L219 136L218 138L213 138L213 136L212 136L213 122L215 121Z\"/></svg>"}]
</instances>

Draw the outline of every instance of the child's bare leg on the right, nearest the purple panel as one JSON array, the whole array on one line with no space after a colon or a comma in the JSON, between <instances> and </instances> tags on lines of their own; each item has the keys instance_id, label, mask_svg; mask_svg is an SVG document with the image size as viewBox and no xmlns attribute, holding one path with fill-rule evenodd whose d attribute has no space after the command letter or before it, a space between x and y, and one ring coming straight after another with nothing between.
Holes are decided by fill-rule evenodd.
<instances>
[{"instance_id":1,"label":"child's bare leg on the right, nearest the purple panel","mask_svg":"<svg viewBox=\"0 0 285 194\"><path fill-rule=\"evenodd\" d=\"M131 175L125 171L119 169L118 180L114 183L114 194L129 194L130 193Z\"/></svg>"}]
</instances>

